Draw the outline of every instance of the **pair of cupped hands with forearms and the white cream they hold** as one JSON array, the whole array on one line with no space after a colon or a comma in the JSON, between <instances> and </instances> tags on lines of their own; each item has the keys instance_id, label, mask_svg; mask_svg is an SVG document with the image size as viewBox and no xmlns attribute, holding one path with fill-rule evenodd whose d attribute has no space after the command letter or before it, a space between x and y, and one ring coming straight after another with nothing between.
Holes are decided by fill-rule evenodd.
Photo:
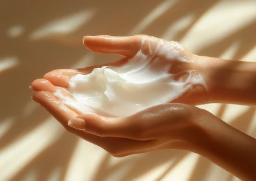
<instances>
[{"instance_id":1,"label":"pair of cupped hands with forearms and the white cream they hold","mask_svg":"<svg viewBox=\"0 0 256 181\"><path fill-rule=\"evenodd\" d=\"M84 45L125 58L53 70L31 84L33 100L65 129L116 157L189 150L255 180L255 139L186 105L255 105L255 63L196 56L177 42L145 35L85 36Z\"/></svg>"}]
</instances>

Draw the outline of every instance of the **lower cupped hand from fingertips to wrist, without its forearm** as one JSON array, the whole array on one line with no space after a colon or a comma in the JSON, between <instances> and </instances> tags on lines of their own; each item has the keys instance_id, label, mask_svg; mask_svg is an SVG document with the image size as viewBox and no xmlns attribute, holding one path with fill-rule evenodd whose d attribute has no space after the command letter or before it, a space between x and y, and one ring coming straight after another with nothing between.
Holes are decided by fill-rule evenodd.
<instances>
[{"instance_id":1,"label":"lower cupped hand from fingertips to wrist, without its forearm","mask_svg":"<svg viewBox=\"0 0 256 181\"><path fill-rule=\"evenodd\" d=\"M100 146L115 157L179 149L196 152L201 109L186 104L161 104L123 118L78 115L52 96L37 91L33 98L68 132Z\"/></svg>"}]
</instances>

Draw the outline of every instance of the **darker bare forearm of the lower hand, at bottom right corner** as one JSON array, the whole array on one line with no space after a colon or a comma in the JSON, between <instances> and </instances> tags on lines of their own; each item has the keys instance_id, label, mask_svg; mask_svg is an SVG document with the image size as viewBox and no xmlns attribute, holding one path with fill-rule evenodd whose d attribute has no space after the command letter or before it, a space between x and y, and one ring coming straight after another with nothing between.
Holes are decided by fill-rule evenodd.
<instances>
[{"instance_id":1,"label":"darker bare forearm of the lower hand, at bottom right corner","mask_svg":"<svg viewBox=\"0 0 256 181\"><path fill-rule=\"evenodd\" d=\"M242 180L256 180L256 139L213 115L199 120L197 126L198 154Z\"/></svg>"}]
</instances>

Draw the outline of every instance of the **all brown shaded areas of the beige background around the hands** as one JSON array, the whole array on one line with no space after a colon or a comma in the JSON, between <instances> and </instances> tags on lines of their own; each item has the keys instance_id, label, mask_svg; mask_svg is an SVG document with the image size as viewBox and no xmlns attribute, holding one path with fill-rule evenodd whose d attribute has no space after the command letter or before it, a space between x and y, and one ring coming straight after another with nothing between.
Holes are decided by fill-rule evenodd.
<instances>
[{"instance_id":1,"label":"all brown shaded areas of the beige background around the hands","mask_svg":"<svg viewBox=\"0 0 256 181\"><path fill-rule=\"evenodd\" d=\"M20 136L26 135L49 118L49 114L40 106L31 104L32 92L28 86L33 80L54 69L71 68L77 62L83 61L84 56L90 55L81 41L84 35L129 35L131 32L136 32L138 24L140 25L150 13L156 12L157 14L157 7L164 3L168 4L168 2L154 0L97 0L76 1L76 3L60 0L1 2L0 63L1 59L6 57L15 57L18 63L8 70L0 72L1 84L7 85L1 86L0 123L7 118L13 118L13 123L8 131L0 137L0 152L13 141L19 140ZM197 6L196 4L199 3L200 6ZM192 15L193 20L188 26L173 36L173 40L179 41L200 17L216 3L218 1L177 1L164 12L158 12L150 24L138 28L140 31L136 34L162 37L166 29L172 26L176 20ZM76 17L77 13L78 15L81 13L81 17L84 16L84 19L81 19L77 24L72 24L72 21L65 24L65 20L68 22L69 17ZM76 19L73 21L76 22ZM134 27L135 29L132 29ZM46 29L46 33L40 34L40 29ZM234 59L243 58L255 44L255 39L252 38L255 37L253 29L256 29L255 23L237 30L219 42L209 45L209 47L202 47L199 54L218 57L233 42L239 41L240 46ZM95 54L90 58L90 61L84 62L83 65L86 67L106 63L116 58L118 56ZM26 111L28 114L24 114ZM219 117L223 111L225 111L225 105L221 106L218 113ZM248 111L237 117L232 125L246 132L254 113L255 109L248 108ZM22 180L31 171L35 172L36 180L46 180L47 176L51 175L56 168L60 171L60 180L63 180L77 139L70 134L63 134L53 145L45 146L42 153L26 163L22 169L17 170L12 180ZM161 180L187 154L187 152L176 150L145 153L141 154L138 159L131 156L114 166L109 166L108 161L111 156L106 155L93 180L104 180L127 164L131 167L127 168L125 179L132 180L157 166L173 161L170 167L163 172L163 175L157 179ZM211 164L204 158L198 159L190 180L204 180Z\"/></svg>"}]
</instances>

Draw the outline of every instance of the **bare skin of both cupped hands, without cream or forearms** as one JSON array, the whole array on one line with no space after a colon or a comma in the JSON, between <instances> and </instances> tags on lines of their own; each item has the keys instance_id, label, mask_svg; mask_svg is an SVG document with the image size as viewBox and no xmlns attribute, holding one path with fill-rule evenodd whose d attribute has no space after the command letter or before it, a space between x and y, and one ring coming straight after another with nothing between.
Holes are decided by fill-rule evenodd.
<instances>
[{"instance_id":1,"label":"bare skin of both cupped hands, without cream or forearms","mask_svg":"<svg viewBox=\"0 0 256 181\"><path fill-rule=\"evenodd\" d=\"M145 40L141 47L141 40ZM106 65L122 66L129 58L134 56L139 50L144 54L153 53L160 41L146 35L136 35L127 37L116 36L85 36L84 45L94 52L103 54L119 54L125 56L122 59L113 61ZM167 42L164 40L164 42ZM179 46L174 47L179 49ZM190 59L190 63L179 63L175 59L170 73L191 70L195 60L193 54L182 48L182 56ZM154 56L161 56L154 54ZM150 152L153 150L163 150L170 148L191 150L193 146L188 141L188 134L193 134L195 127L193 121L196 120L198 108L175 104L175 102L185 104L204 104L205 91L202 87L196 86L181 97L173 100L172 104L163 104L150 107L125 118L105 118L102 116L79 115L76 111L65 106L60 98L54 97L54 92L58 88L67 88L70 79L77 74L90 74L93 68L102 67L97 65L80 69L60 69L53 70L44 75L43 79L36 79L31 84L31 89L35 91L33 100L38 102L52 116L56 118L69 132L90 141L107 150L117 157L131 155L134 153ZM200 98L199 98L200 97ZM197 114L199 115L199 114ZM72 118L78 122L74 122ZM71 120L68 125L68 120ZM78 124L77 124L78 123ZM77 127L75 129L70 127Z\"/></svg>"}]
</instances>

